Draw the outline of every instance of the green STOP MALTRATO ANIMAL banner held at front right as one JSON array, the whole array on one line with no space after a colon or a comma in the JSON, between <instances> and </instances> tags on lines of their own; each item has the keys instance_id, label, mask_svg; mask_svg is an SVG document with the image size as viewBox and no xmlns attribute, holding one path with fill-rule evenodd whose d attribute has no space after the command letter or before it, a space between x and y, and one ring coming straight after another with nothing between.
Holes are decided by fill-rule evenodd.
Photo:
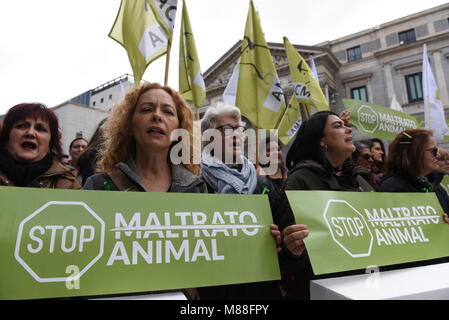
<instances>
[{"instance_id":1,"label":"green STOP MALTRATO ANIMAL banner held at front right","mask_svg":"<svg viewBox=\"0 0 449 320\"><path fill-rule=\"evenodd\" d=\"M288 191L313 271L326 274L449 256L434 193Z\"/></svg>"}]
</instances>

